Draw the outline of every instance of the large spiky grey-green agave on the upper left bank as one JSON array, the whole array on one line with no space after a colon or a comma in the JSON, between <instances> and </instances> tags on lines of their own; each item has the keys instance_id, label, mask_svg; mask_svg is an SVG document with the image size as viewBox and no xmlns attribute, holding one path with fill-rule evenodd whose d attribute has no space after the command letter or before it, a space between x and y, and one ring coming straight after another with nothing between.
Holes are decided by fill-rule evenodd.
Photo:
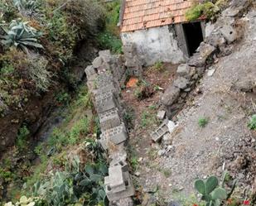
<instances>
[{"instance_id":1,"label":"large spiky grey-green agave on the upper left bank","mask_svg":"<svg viewBox=\"0 0 256 206\"><path fill-rule=\"evenodd\" d=\"M37 38L42 35L28 22L22 22L21 19L12 20L11 24L6 27L1 26L2 30L6 33L5 36L0 36L4 46L16 46L22 50L28 50L28 47L43 48L41 44L37 43Z\"/></svg>"}]
</instances>

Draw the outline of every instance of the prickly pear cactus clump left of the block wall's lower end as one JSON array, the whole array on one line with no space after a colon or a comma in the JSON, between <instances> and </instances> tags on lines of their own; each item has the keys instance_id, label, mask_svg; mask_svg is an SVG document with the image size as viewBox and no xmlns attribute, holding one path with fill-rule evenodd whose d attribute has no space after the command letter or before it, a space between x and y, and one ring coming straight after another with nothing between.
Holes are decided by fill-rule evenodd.
<instances>
[{"instance_id":1,"label":"prickly pear cactus clump left of the block wall's lower end","mask_svg":"<svg viewBox=\"0 0 256 206\"><path fill-rule=\"evenodd\" d=\"M108 205L104 192L104 176L107 174L107 166L103 163L81 167L80 160L76 157L72 167L56 172L51 180L36 182L32 189L33 195L56 206L78 203Z\"/></svg>"}]
</instances>

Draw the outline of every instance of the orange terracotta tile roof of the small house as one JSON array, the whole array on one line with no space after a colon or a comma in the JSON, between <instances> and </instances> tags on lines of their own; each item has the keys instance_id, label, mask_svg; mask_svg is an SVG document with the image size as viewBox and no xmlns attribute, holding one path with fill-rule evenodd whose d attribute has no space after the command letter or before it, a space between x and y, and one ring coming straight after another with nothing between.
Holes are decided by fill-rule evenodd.
<instances>
[{"instance_id":1,"label":"orange terracotta tile roof of the small house","mask_svg":"<svg viewBox=\"0 0 256 206\"><path fill-rule=\"evenodd\" d=\"M121 32L186 22L194 0L126 0Z\"/></svg>"}]
</instances>

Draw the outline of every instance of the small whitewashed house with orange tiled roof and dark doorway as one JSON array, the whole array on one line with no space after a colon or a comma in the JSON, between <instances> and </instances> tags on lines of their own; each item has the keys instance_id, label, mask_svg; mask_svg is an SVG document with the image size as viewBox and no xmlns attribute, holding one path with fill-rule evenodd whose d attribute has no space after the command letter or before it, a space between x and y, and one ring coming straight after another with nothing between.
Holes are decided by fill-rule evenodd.
<instances>
[{"instance_id":1,"label":"small whitewashed house with orange tiled roof and dark doorway","mask_svg":"<svg viewBox=\"0 0 256 206\"><path fill-rule=\"evenodd\" d=\"M185 61L204 40L204 22L187 22L195 0L123 0L119 26L123 45L136 46L142 65Z\"/></svg>"}]
</instances>

